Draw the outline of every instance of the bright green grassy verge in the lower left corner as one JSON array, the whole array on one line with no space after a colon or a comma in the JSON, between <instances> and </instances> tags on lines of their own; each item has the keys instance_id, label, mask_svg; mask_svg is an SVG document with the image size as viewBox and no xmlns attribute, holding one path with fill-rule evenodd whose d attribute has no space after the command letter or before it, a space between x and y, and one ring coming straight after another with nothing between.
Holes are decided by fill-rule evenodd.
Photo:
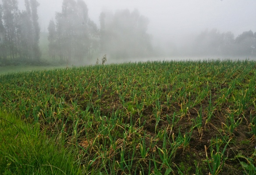
<instances>
[{"instance_id":1,"label":"bright green grassy verge in the lower left corner","mask_svg":"<svg viewBox=\"0 0 256 175\"><path fill-rule=\"evenodd\" d=\"M0 110L0 174L80 174L76 149L46 136L40 125L27 124Z\"/></svg>"}]
</instances>

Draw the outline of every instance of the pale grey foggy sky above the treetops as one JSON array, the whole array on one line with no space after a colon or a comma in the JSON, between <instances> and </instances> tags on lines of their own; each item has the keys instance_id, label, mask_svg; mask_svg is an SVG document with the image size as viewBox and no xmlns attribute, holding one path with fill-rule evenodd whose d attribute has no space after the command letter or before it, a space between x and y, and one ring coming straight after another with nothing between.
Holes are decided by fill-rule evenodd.
<instances>
[{"instance_id":1,"label":"pale grey foggy sky above the treetops","mask_svg":"<svg viewBox=\"0 0 256 175\"><path fill-rule=\"evenodd\" d=\"M61 11L63 0L38 0L39 24L47 32L50 19ZM104 10L138 9L149 18L148 33L166 40L199 34L216 28L231 31L237 36L243 31L256 32L256 0L84 0L89 17L99 26L99 15ZM24 0L18 0L24 9ZM181 37L182 38L182 37Z\"/></svg>"}]
</instances>

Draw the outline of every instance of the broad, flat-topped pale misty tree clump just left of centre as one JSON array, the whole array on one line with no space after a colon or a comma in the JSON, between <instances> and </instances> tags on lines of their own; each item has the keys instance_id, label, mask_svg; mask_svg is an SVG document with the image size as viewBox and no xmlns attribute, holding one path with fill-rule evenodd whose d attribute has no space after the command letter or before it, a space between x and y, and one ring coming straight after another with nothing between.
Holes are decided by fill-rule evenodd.
<instances>
[{"instance_id":1,"label":"broad, flat-topped pale misty tree clump just left of centre","mask_svg":"<svg viewBox=\"0 0 256 175\"><path fill-rule=\"evenodd\" d=\"M151 39L147 33L149 20L138 10L117 10L100 14L101 51L111 57L138 57L151 54Z\"/></svg>"}]
</instances>

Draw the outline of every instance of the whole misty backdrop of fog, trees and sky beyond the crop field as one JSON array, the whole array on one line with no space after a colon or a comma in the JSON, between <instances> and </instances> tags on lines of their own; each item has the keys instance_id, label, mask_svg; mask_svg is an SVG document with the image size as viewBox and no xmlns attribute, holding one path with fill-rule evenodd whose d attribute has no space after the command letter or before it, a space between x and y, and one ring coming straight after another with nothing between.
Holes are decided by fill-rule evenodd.
<instances>
[{"instance_id":1,"label":"whole misty backdrop of fog, trees and sky beyond the crop field","mask_svg":"<svg viewBox=\"0 0 256 175\"><path fill-rule=\"evenodd\" d=\"M0 4L0 65L256 58L254 0Z\"/></svg>"}]
</instances>

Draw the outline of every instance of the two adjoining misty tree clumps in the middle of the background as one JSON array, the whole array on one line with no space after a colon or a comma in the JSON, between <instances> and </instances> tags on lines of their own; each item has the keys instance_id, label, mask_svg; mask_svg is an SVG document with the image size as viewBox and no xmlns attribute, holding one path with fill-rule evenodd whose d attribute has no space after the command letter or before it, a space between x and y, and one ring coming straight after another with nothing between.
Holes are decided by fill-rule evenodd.
<instances>
[{"instance_id":1,"label":"two adjoining misty tree clumps in the middle of the background","mask_svg":"<svg viewBox=\"0 0 256 175\"><path fill-rule=\"evenodd\" d=\"M97 28L83 0L64 0L48 26L49 54L71 62L90 60L94 53L117 59L148 56L152 50L148 24L138 10L103 11Z\"/></svg>"}]
</instances>

